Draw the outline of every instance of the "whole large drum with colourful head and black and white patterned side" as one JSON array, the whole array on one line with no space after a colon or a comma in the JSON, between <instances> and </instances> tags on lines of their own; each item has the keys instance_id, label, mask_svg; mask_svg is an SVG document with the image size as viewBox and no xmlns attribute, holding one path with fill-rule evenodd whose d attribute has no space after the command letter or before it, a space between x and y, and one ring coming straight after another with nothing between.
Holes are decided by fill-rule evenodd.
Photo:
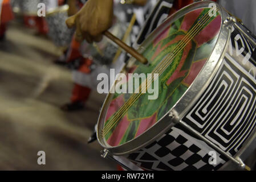
<instances>
[{"instance_id":1,"label":"whole large drum with colourful head and black and white patterned side","mask_svg":"<svg viewBox=\"0 0 256 182\"><path fill-rule=\"evenodd\" d=\"M105 99L97 123L103 156L147 170L249 169L243 160L256 148L255 47L217 3L193 3L170 16L139 48L149 64L130 59L121 72L127 79L120 74Z\"/></svg>"}]
</instances>

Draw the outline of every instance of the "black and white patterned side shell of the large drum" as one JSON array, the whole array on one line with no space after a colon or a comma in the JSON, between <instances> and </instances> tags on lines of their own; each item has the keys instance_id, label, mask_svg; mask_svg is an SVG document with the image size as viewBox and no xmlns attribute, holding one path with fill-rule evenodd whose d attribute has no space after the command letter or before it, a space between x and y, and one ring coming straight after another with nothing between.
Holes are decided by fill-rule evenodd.
<instances>
[{"instance_id":1,"label":"black and white patterned side shell of the large drum","mask_svg":"<svg viewBox=\"0 0 256 182\"><path fill-rule=\"evenodd\" d=\"M255 148L255 146L250 146L250 142L255 140L256 126L255 48L252 43L246 40L245 35L232 26L229 47L218 72L208 88L181 119L211 142L217 144L227 154L231 156L242 155L243 160ZM226 91L221 92L220 88L224 85ZM219 93L214 93L216 90L219 90ZM220 99L217 100L217 98ZM202 121L200 118L203 116L200 113L202 114L205 102L209 100L211 101L210 105L214 107L204 113L206 117ZM238 101L243 102L243 105L241 106L241 103L235 104ZM235 110L237 106L241 106L237 108L239 111ZM233 116L233 119L229 120L230 115ZM198 127L199 123L204 123L205 126L200 128ZM232 127L229 130L233 130L233 132L224 135L224 132L227 133L227 126ZM215 152L217 156L215 164L210 164L212 152ZM247 155L243 155L243 153ZM147 147L132 152L126 157L140 168L148 170L230 168L230 162L224 155L220 155L180 124L173 126L170 131L161 135ZM238 169L238 167L233 167L233 169Z\"/></svg>"}]
</instances>

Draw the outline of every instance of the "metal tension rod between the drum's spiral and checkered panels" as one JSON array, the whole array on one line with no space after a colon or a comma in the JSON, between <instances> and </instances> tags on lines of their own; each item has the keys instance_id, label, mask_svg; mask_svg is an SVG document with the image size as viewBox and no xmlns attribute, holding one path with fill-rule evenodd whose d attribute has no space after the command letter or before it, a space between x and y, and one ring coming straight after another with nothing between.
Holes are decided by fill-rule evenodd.
<instances>
[{"instance_id":1,"label":"metal tension rod between the drum's spiral and checkered panels","mask_svg":"<svg viewBox=\"0 0 256 182\"><path fill-rule=\"evenodd\" d=\"M224 150L222 150L220 147L218 147L216 144L214 144L212 141L210 141L209 139L207 139L206 137L204 137L203 135L201 135L198 131L194 130L191 126L189 126L188 124L186 124L184 121L181 121L180 119L178 119L177 113L176 111L170 111L169 116L174 118L172 119L172 122L174 123L180 123L182 126L184 126L186 129L188 129L191 133L193 133L194 135L196 135L198 138L202 139L205 143L209 144L210 147L212 147L214 150L220 152L220 154L224 155L227 159L230 159L232 162L234 162L235 164L237 164L240 168L245 169L247 171L250 171L250 167L246 166L245 163L243 163L242 159L239 158L239 156L237 157L233 157L229 154L227 154L227 152L225 152ZM177 122L178 121L178 122Z\"/></svg>"}]
</instances>

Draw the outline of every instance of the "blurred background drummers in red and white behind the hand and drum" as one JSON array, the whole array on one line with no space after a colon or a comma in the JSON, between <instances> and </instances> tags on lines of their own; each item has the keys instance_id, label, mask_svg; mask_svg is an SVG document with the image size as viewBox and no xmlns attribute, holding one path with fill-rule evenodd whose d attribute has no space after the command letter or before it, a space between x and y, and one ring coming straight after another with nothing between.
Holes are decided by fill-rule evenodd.
<instances>
[{"instance_id":1,"label":"blurred background drummers in red and white behind the hand and drum","mask_svg":"<svg viewBox=\"0 0 256 182\"><path fill-rule=\"evenodd\" d=\"M172 6L173 0L162 2L140 0L134 1L133 4L123 5L119 0L115 0L115 18L109 31L129 46L136 48L169 14L192 2L176 1ZM39 3L46 5L46 16L38 16L40 13ZM74 39L75 30L68 29L65 20L68 16L76 14L84 3L86 0L3 0L1 2L0 36L2 40L5 38L7 23L14 19L14 15L18 15L22 17L24 26L34 28L38 35L47 35L56 46L63 50L63 55L54 60L54 63L70 68L74 80L70 102L61 106L61 109L65 111L83 109L91 90L96 89L97 74L103 72L109 74L109 68L115 68L118 73L129 58L107 38L100 43L92 44L88 44L86 41L77 42ZM155 20L152 16L154 14L151 12L154 8L156 9L157 3L162 12L161 18ZM168 9L162 9L161 4ZM152 17L151 22L148 21L148 26L151 28L144 28L147 32L143 32L141 30L145 27L146 20L150 15ZM138 39L138 35L140 35L140 39Z\"/></svg>"}]
</instances>

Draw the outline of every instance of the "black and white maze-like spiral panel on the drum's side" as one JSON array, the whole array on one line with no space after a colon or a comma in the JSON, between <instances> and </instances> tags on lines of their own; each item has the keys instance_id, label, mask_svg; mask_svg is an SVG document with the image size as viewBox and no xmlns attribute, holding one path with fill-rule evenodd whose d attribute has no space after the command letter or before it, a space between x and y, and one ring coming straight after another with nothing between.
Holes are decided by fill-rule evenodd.
<instances>
[{"instance_id":1,"label":"black and white maze-like spiral panel on the drum's side","mask_svg":"<svg viewBox=\"0 0 256 182\"><path fill-rule=\"evenodd\" d=\"M256 82L226 54L212 84L182 120L234 155L254 130L255 117Z\"/></svg>"}]
</instances>

